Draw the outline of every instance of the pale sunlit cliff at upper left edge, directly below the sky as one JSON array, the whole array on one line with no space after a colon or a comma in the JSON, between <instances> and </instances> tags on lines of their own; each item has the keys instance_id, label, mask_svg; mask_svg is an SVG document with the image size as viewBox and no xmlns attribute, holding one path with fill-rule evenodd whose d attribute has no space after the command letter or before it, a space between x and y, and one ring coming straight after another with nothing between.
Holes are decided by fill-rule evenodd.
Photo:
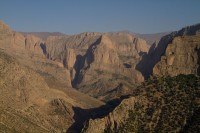
<instances>
[{"instance_id":1,"label":"pale sunlit cliff at upper left edge, directly below the sky","mask_svg":"<svg viewBox=\"0 0 200 133\"><path fill-rule=\"evenodd\" d=\"M23 36L18 32L12 31L9 26L0 22L0 47L7 50L15 50L17 52L25 52L29 54L36 54L43 56L43 51L41 49L42 41L33 35Z\"/></svg>"}]
</instances>

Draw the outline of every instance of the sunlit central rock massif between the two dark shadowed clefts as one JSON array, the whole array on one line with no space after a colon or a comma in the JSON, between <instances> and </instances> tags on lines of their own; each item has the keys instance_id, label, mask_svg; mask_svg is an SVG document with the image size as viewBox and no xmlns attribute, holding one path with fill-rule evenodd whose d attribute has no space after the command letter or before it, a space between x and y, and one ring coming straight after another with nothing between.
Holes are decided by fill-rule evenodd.
<instances>
[{"instance_id":1,"label":"sunlit central rock massif between the two dark shadowed clefts","mask_svg":"<svg viewBox=\"0 0 200 133\"><path fill-rule=\"evenodd\" d=\"M87 50L76 87L92 96L102 96L121 82L132 85L142 82L142 75L134 68L136 62L140 60L139 52L147 50L145 47L142 49L142 44L146 46L142 40L126 34L102 35Z\"/></svg>"}]
</instances>

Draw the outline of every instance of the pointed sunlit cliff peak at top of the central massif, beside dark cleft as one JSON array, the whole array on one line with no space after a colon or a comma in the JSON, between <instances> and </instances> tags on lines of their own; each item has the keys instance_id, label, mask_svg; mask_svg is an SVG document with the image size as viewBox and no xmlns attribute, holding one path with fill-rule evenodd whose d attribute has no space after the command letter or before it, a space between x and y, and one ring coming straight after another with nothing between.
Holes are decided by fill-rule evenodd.
<instances>
[{"instance_id":1,"label":"pointed sunlit cliff peak at top of the central massif, beside dark cleft","mask_svg":"<svg viewBox=\"0 0 200 133\"><path fill-rule=\"evenodd\" d=\"M94 67L92 69L115 70L119 67L119 57L109 37L102 35L86 53L85 67Z\"/></svg>"}]
</instances>

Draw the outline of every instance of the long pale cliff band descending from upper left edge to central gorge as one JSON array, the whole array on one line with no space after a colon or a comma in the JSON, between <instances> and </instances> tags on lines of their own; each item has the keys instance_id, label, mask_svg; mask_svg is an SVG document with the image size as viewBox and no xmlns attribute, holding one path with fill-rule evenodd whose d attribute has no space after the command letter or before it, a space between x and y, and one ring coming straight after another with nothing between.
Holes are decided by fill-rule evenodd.
<instances>
[{"instance_id":1,"label":"long pale cliff band descending from upper left edge to central gorge","mask_svg":"<svg viewBox=\"0 0 200 133\"><path fill-rule=\"evenodd\" d=\"M62 63L46 59L46 46L41 38L33 35L23 36L12 31L1 21L0 48L17 58L21 64L38 72L49 85L59 89L71 87L70 72Z\"/></svg>"}]
</instances>

